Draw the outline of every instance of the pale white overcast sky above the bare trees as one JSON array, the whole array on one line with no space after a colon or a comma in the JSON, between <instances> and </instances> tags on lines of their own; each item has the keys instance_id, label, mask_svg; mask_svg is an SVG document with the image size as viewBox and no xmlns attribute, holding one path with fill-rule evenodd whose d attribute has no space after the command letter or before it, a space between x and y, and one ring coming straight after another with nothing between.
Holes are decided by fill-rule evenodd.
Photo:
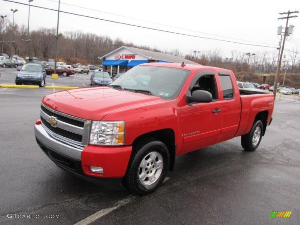
<instances>
[{"instance_id":1,"label":"pale white overcast sky above the bare trees","mask_svg":"<svg viewBox=\"0 0 300 225\"><path fill-rule=\"evenodd\" d=\"M15 0L28 3L26 0ZM58 0L34 0L32 5L58 8ZM66 3L66 4L63 4ZM73 4L80 7L74 7ZM300 9L298 0L285 1L102 1L102 0L61 0L61 10L94 16L101 19L115 20L119 22L147 26L155 29L163 29L203 37L226 39L250 44L276 46L280 36L277 35L277 27L285 26L286 20L277 20L281 17L278 13L283 11L295 11ZM84 7L84 8L82 8ZM28 6L0 1L0 15L7 15L12 20L10 9L18 9L15 13L15 22L27 26ZM86 8L91 8L89 10ZM95 11L99 10L99 11ZM107 13L105 13L107 12ZM112 15L114 13L122 16ZM275 51L275 48L247 46L241 44L226 43L222 41L206 40L202 38L187 37L182 35L164 33L154 30L136 28L112 22L74 16L60 13L59 31L92 32L97 35L108 35L111 38L122 38L123 41L133 42L137 45L148 45L161 50L179 49L186 54L194 50L208 51L215 48L223 52L223 57L230 57L231 50L241 52ZM286 42L287 49L300 49L300 14L297 18L289 20L289 25L294 25L294 34L291 41ZM135 19L127 18L132 17ZM149 21L149 22L146 22ZM30 29L40 27L56 28L57 12L30 8ZM159 24L165 24L163 26ZM173 27L184 28L230 38L244 39L247 41L222 38L204 33L192 32ZM249 41L262 42L253 43ZM298 45L297 45L298 44Z\"/></svg>"}]
</instances>

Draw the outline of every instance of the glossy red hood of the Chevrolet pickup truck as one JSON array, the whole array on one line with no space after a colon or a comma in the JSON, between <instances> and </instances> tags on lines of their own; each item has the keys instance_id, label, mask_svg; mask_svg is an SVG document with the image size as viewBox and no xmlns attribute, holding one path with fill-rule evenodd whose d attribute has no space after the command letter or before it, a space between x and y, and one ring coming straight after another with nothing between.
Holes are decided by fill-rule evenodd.
<instances>
[{"instance_id":1,"label":"glossy red hood of the Chevrolet pickup truck","mask_svg":"<svg viewBox=\"0 0 300 225\"><path fill-rule=\"evenodd\" d=\"M164 101L153 95L110 87L79 88L46 95L42 103L71 116L101 120L105 115L128 107Z\"/></svg>"}]
</instances>

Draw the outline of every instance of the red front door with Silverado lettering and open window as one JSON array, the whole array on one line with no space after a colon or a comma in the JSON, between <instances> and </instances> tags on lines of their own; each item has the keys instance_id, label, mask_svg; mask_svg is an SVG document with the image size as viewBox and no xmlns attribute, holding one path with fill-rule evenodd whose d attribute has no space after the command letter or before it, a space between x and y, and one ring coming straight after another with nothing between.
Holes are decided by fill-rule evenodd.
<instances>
[{"instance_id":1,"label":"red front door with Silverado lettering and open window","mask_svg":"<svg viewBox=\"0 0 300 225\"><path fill-rule=\"evenodd\" d=\"M209 103L186 104L180 109L181 151L195 151L218 142L222 128L222 103L217 95L214 72L198 73L190 84L190 91L209 91L213 100Z\"/></svg>"}]
</instances>

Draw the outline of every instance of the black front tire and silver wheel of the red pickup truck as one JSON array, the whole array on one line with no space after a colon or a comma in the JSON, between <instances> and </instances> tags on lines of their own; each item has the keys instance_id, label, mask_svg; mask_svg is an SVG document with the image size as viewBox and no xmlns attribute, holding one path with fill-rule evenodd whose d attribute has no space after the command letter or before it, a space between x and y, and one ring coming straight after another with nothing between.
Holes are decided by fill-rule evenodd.
<instances>
[{"instance_id":1,"label":"black front tire and silver wheel of the red pickup truck","mask_svg":"<svg viewBox=\"0 0 300 225\"><path fill-rule=\"evenodd\" d=\"M159 153L159 156L158 155L157 156L162 159L162 163L163 163L162 169L161 171L159 171L159 168L161 167L159 168L152 167L152 163L153 165L156 165L156 162L154 161L159 162L158 157L155 158L154 161L152 160L151 162L146 164L147 167L149 166L150 168L147 168L147 170L145 168L145 171L147 171L149 174L150 172L152 173L153 171L152 176L154 176L155 173L157 172L159 173L159 175L157 178L154 178L155 180L153 181L153 183L151 183L151 181L149 181L149 178L146 177L146 179L148 180L145 179L145 182L150 182L150 184L149 185L142 184L140 182L138 173L144 172L146 174L146 172L144 171L144 169L140 168L140 164L142 163L142 161L146 161L145 159L148 157L149 154L154 154L155 156L155 154L157 153ZM166 173L169 169L169 163L170 163L170 155L169 155L168 148L164 143L154 138L141 141L133 148L126 174L122 179L122 184L131 193L135 193L139 195L146 195L152 193L164 181Z\"/></svg>"}]
</instances>

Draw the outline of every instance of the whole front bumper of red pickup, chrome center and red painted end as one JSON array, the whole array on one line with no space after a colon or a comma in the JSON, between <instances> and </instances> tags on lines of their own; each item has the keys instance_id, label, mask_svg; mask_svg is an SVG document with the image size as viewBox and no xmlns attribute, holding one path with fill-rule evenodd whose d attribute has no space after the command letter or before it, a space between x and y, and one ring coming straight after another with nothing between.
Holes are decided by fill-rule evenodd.
<instances>
[{"instance_id":1,"label":"whole front bumper of red pickup, chrome center and red painted end","mask_svg":"<svg viewBox=\"0 0 300 225\"><path fill-rule=\"evenodd\" d=\"M122 178L125 176L132 146L70 146L52 137L44 127L35 125L35 137L43 152L60 168L82 179ZM93 173L90 166L102 167L103 174Z\"/></svg>"}]
</instances>

